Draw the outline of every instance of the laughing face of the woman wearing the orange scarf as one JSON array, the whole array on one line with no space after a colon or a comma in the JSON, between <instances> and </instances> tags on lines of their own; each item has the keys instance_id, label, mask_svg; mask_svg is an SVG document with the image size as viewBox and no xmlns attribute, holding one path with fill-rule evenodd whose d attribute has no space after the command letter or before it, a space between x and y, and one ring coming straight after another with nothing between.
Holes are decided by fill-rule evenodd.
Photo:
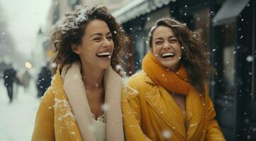
<instances>
[{"instance_id":1,"label":"laughing face of the woman wearing the orange scarf","mask_svg":"<svg viewBox=\"0 0 256 141\"><path fill-rule=\"evenodd\" d=\"M172 29L160 25L152 34L152 47L155 58L162 66L176 72L179 70L182 47Z\"/></svg>"}]
</instances>

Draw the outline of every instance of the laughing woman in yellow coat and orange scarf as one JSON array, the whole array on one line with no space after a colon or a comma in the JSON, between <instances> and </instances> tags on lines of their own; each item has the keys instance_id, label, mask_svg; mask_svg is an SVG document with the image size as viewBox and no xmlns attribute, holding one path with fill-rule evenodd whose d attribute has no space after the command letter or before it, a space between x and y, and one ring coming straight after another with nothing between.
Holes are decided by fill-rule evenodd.
<instances>
[{"instance_id":1,"label":"laughing woman in yellow coat and orange scarf","mask_svg":"<svg viewBox=\"0 0 256 141\"><path fill-rule=\"evenodd\" d=\"M207 82L214 68L196 32L173 18L157 20L143 71L128 80L138 94L123 105L126 140L223 141Z\"/></svg>"}]
</instances>

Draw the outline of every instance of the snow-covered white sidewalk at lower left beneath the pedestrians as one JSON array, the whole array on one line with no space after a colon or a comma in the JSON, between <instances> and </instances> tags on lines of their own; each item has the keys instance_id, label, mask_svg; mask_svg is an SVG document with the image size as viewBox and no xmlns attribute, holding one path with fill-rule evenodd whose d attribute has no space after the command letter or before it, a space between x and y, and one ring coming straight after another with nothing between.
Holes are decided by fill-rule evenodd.
<instances>
[{"instance_id":1,"label":"snow-covered white sidewalk at lower left beneath the pedestrians","mask_svg":"<svg viewBox=\"0 0 256 141\"><path fill-rule=\"evenodd\" d=\"M9 104L6 87L0 81L0 140L28 141L31 140L35 114L38 110L39 99L36 95L35 81L30 81L28 92L18 87L17 97Z\"/></svg>"}]
</instances>

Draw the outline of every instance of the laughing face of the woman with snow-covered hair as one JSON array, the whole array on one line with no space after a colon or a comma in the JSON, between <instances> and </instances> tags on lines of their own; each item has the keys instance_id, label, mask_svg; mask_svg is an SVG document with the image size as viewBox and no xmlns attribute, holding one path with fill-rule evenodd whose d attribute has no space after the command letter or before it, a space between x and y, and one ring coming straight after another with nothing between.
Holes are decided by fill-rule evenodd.
<instances>
[{"instance_id":1,"label":"laughing face of the woman with snow-covered hair","mask_svg":"<svg viewBox=\"0 0 256 141\"><path fill-rule=\"evenodd\" d=\"M94 68L108 68L113 53L113 39L104 20L91 20L84 28L82 43L72 50L79 55L82 65Z\"/></svg>"}]
</instances>

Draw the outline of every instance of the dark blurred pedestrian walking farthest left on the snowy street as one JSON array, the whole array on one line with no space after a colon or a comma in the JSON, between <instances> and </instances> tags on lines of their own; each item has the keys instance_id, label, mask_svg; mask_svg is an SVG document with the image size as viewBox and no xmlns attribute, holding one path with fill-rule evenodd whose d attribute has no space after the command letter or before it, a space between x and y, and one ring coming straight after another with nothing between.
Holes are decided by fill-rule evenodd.
<instances>
[{"instance_id":1,"label":"dark blurred pedestrian walking farthest left on the snowy street","mask_svg":"<svg viewBox=\"0 0 256 141\"><path fill-rule=\"evenodd\" d=\"M4 85L6 86L10 103L13 101L13 82L20 83L16 71L13 68L8 68L4 71Z\"/></svg>"}]
</instances>

